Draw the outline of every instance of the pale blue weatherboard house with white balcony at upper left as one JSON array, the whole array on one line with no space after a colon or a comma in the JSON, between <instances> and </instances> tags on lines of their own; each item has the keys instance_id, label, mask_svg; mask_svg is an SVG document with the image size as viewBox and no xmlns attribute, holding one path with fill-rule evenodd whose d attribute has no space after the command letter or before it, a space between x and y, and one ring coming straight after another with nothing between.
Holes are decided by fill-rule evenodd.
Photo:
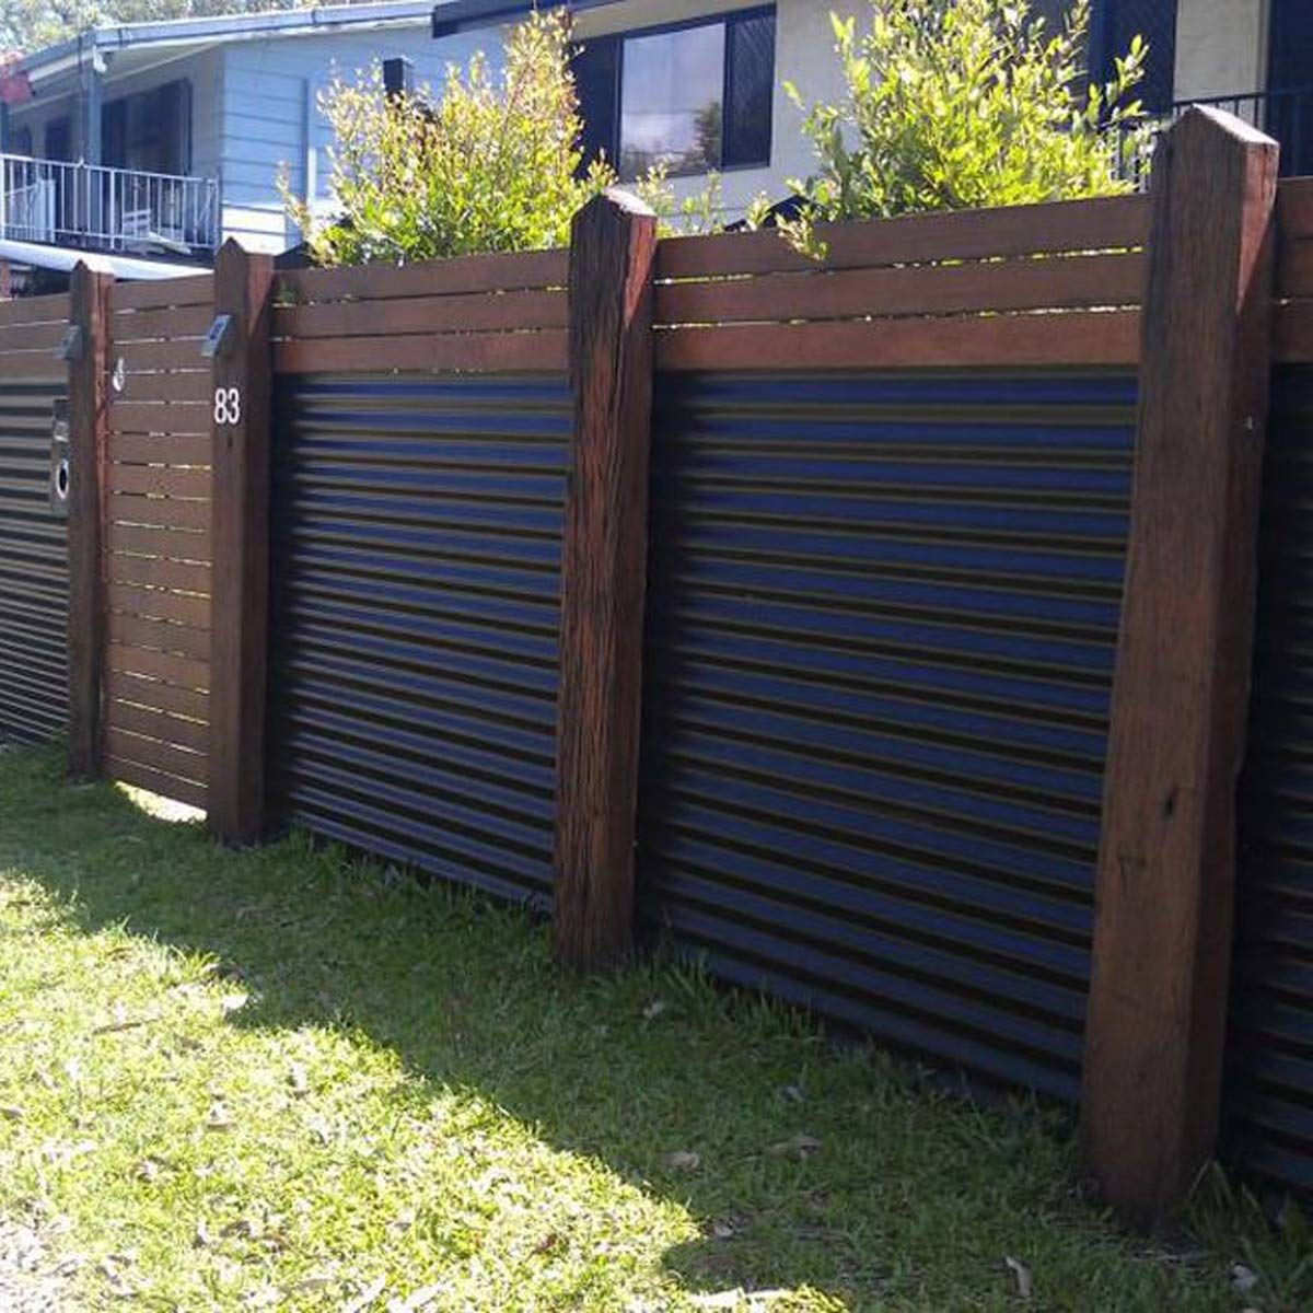
<instances>
[{"instance_id":1,"label":"pale blue weatherboard house with white balcony at upper left","mask_svg":"<svg viewBox=\"0 0 1313 1313\"><path fill-rule=\"evenodd\" d=\"M286 165L294 192L322 194L320 89L374 59L440 76L431 11L126 24L26 55L0 79L0 243L179 260L207 260L226 238L286 249L298 234L274 179Z\"/></svg>"}]
</instances>

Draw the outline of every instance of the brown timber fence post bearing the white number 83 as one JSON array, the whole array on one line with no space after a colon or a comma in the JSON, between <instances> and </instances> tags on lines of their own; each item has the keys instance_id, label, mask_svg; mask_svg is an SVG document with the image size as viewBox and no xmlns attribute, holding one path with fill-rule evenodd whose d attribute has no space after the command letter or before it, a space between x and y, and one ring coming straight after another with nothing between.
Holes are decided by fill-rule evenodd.
<instances>
[{"instance_id":1,"label":"brown timber fence post bearing the white number 83","mask_svg":"<svg viewBox=\"0 0 1313 1313\"><path fill-rule=\"evenodd\" d=\"M210 829L226 843L264 830L269 634L269 428L273 261L223 244L214 263L214 583Z\"/></svg>"}]
</instances>

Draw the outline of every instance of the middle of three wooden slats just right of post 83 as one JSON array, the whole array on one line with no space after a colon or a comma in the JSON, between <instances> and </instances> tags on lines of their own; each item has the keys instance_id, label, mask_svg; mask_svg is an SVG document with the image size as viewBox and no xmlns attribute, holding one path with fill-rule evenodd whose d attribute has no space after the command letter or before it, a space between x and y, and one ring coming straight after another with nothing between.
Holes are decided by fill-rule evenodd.
<instances>
[{"instance_id":1,"label":"middle of three wooden slats just right of post 83","mask_svg":"<svg viewBox=\"0 0 1313 1313\"><path fill-rule=\"evenodd\" d=\"M276 337L370 337L496 328L563 328L563 291L411 297L403 301L339 301L277 310Z\"/></svg>"}]
</instances>

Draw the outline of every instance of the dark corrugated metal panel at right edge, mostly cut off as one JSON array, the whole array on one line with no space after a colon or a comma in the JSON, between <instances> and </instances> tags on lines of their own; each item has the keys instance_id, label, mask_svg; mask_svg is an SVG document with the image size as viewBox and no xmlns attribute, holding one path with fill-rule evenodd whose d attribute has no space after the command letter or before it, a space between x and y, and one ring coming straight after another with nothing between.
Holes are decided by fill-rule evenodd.
<instances>
[{"instance_id":1,"label":"dark corrugated metal panel at right edge, mostly cut off","mask_svg":"<svg viewBox=\"0 0 1313 1313\"><path fill-rule=\"evenodd\" d=\"M1313 369L1278 376L1229 1032L1241 1166L1313 1192Z\"/></svg>"}]
</instances>

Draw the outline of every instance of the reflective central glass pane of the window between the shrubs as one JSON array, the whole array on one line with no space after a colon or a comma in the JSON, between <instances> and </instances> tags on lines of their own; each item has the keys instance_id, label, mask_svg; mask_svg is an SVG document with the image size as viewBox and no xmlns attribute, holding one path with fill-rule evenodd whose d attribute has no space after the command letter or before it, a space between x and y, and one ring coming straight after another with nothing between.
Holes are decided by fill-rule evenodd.
<instances>
[{"instance_id":1,"label":"reflective central glass pane of the window between the shrubs","mask_svg":"<svg viewBox=\"0 0 1313 1313\"><path fill-rule=\"evenodd\" d=\"M723 24L626 39L620 92L622 176L638 177L658 161L672 175L720 168L723 81Z\"/></svg>"}]
</instances>

